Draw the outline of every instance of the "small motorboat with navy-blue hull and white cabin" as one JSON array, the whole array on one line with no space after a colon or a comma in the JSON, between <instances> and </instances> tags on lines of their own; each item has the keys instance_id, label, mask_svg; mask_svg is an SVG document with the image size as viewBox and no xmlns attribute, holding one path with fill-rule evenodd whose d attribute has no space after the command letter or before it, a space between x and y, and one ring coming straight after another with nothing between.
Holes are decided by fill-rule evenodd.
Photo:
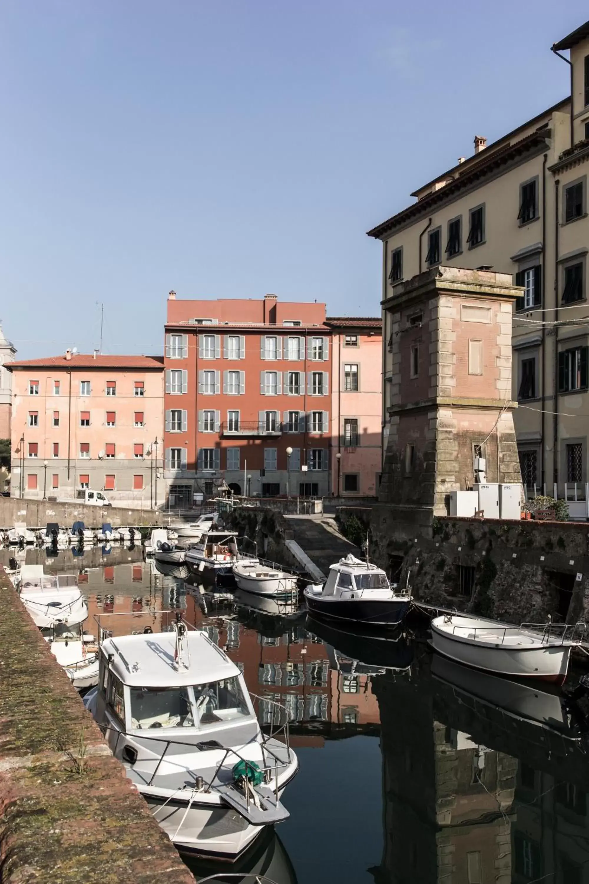
<instances>
[{"instance_id":1,"label":"small motorboat with navy-blue hull and white cabin","mask_svg":"<svg viewBox=\"0 0 589 884\"><path fill-rule=\"evenodd\" d=\"M391 586L381 568L351 553L329 568L322 586L307 586L305 598L314 615L364 626L396 626L412 602L410 592Z\"/></svg>"}]
</instances>

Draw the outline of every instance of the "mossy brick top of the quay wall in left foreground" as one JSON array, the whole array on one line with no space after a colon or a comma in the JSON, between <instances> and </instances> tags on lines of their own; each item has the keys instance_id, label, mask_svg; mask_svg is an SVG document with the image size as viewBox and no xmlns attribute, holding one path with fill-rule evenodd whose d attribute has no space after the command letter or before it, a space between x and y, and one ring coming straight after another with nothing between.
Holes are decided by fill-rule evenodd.
<instances>
[{"instance_id":1,"label":"mossy brick top of the quay wall in left foreground","mask_svg":"<svg viewBox=\"0 0 589 884\"><path fill-rule=\"evenodd\" d=\"M0 881L194 884L0 569Z\"/></svg>"}]
</instances>

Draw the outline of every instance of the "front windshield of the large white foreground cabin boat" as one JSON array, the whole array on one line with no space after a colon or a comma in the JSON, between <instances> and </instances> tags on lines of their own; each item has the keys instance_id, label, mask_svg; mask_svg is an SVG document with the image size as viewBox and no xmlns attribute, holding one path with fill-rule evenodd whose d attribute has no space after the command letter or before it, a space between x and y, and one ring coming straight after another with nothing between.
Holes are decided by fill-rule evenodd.
<instances>
[{"instance_id":1,"label":"front windshield of the large white foreground cabin boat","mask_svg":"<svg viewBox=\"0 0 589 884\"><path fill-rule=\"evenodd\" d=\"M173 688L130 688L132 727L193 728L249 716L237 676ZM195 720L196 713L196 720Z\"/></svg>"}]
</instances>

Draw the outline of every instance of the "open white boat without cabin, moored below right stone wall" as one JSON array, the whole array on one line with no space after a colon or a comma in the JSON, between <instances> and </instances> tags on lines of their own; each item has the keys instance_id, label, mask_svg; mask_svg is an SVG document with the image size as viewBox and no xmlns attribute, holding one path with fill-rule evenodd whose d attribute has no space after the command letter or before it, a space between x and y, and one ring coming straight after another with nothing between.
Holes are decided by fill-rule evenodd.
<instances>
[{"instance_id":1,"label":"open white boat without cabin, moored below right stone wall","mask_svg":"<svg viewBox=\"0 0 589 884\"><path fill-rule=\"evenodd\" d=\"M454 612L432 621L432 644L445 657L498 675L558 684L566 679L570 652L584 633L583 623L514 626Z\"/></svg>"}]
</instances>

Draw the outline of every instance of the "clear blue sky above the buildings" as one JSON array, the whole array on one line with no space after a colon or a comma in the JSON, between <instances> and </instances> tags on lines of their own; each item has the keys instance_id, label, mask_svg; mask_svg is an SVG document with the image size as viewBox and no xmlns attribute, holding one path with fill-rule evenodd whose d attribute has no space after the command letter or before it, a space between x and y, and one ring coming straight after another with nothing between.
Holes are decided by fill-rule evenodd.
<instances>
[{"instance_id":1,"label":"clear blue sky above the buildings","mask_svg":"<svg viewBox=\"0 0 589 884\"><path fill-rule=\"evenodd\" d=\"M378 315L366 230L568 95L581 0L4 0L0 318L162 352L166 296Z\"/></svg>"}]
</instances>

